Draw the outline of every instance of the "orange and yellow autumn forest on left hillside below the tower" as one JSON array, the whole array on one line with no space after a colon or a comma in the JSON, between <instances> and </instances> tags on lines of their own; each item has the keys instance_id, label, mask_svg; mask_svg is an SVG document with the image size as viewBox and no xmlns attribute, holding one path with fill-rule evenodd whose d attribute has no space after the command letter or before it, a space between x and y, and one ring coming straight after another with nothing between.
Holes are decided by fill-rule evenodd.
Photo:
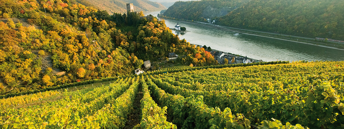
<instances>
[{"instance_id":1,"label":"orange and yellow autumn forest on left hillside below the tower","mask_svg":"<svg viewBox=\"0 0 344 129\"><path fill-rule=\"evenodd\" d=\"M140 15L109 15L69 0L0 1L1 94L131 75L169 52L186 55L186 65L216 63L164 21Z\"/></svg>"}]
</instances>

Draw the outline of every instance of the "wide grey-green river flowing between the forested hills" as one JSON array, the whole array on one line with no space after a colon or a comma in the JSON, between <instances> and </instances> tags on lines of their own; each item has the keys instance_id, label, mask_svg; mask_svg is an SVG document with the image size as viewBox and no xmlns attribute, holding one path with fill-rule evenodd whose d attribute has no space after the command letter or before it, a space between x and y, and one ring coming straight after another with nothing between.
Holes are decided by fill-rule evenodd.
<instances>
[{"instance_id":1,"label":"wide grey-green river flowing between the forested hills","mask_svg":"<svg viewBox=\"0 0 344 129\"><path fill-rule=\"evenodd\" d=\"M149 12L157 17L157 12ZM164 19L169 28L174 28L177 21ZM263 61L343 61L344 50L327 47L283 41L268 37L239 34L235 32L218 30L202 25L179 22L186 30L190 31L180 35L180 39L198 45L210 46L211 49L247 56ZM176 32L172 31L174 34Z\"/></svg>"}]
</instances>

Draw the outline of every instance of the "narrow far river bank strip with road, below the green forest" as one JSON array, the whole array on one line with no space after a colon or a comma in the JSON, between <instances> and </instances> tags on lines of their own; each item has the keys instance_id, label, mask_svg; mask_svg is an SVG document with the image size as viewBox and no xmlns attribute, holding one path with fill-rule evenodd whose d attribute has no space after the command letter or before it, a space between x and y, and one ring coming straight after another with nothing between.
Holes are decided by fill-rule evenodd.
<instances>
[{"instance_id":1,"label":"narrow far river bank strip with road, below the green forest","mask_svg":"<svg viewBox=\"0 0 344 129\"><path fill-rule=\"evenodd\" d=\"M219 29L224 31L230 31L230 32L236 32L236 33L242 33L242 34L248 34L248 35L254 35L254 36L261 36L261 37L268 37L272 39L278 39L283 41L290 41L290 42L297 42L297 43L304 43L304 44L310 44L310 45L316 45L336 50L343 50L344 44L343 43L333 43L333 42L325 42L325 41L319 41L307 37L299 37L299 36L291 36L291 35L282 35L282 34L274 34L274 33L268 33L268 32L259 32L259 31L252 31L252 30L245 30L245 29L238 29L238 28L231 28L227 26L219 26L204 22L195 22L195 21L187 21L187 20L173 20L166 17L159 17L161 19L168 19L171 21L178 21L178 22L184 22L184 23L190 23L190 24L196 24L201 26L206 26L213 29Z\"/></svg>"}]
</instances>

